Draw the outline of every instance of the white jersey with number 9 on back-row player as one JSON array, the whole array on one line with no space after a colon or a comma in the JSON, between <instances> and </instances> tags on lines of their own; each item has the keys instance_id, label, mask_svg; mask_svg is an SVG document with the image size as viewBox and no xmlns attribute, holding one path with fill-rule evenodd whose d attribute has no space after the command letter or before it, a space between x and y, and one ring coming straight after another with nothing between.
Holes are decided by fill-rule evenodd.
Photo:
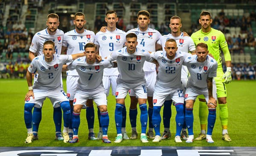
<instances>
[{"instance_id":1,"label":"white jersey with number 9 on back-row player","mask_svg":"<svg viewBox=\"0 0 256 156\"><path fill-rule=\"evenodd\" d=\"M99 45L99 55L107 57L111 52L121 49L125 44L126 32L117 29L113 32L97 32L94 43ZM117 68L104 69L105 76L118 75Z\"/></svg>"}]
</instances>

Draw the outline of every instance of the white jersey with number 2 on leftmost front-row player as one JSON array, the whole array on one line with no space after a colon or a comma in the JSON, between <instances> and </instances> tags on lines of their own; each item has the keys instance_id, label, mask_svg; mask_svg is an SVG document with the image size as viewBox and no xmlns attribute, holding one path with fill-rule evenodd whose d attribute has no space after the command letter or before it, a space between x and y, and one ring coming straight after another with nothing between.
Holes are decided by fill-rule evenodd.
<instances>
[{"instance_id":1,"label":"white jersey with number 2 on leftmost front-row player","mask_svg":"<svg viewBox=\"0 0 256 156\"><path fill-rule=\"evenodd\" d=\"M34 82L33 89L51 90L61 87L61 70L62 65L71 62L71 55L53 55L51 62L44 60L44 55L35 57L28 71L30 73L38 72L38 78Z\"/></svg>"}]
</instances>

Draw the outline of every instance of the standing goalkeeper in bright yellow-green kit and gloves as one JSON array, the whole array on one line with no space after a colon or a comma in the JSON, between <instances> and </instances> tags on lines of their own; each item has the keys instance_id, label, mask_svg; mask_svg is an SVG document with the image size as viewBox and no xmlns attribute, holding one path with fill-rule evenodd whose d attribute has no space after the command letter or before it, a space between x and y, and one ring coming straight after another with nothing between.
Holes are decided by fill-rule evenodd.
<instances>
[{"instance_id":1,"label":"standing goalkeeper in bright yellow-green kit and gloves","mask_svg":"<svg viewBox=\"0 0 256 156\"><path fill-rule=\"evenodd\" d=\"M195 45L198 43L206 43L209 53L212 54L218 63L217 77L214 78L217 88L218 105L220 109L220 119L222 124L222 139L230 142L230 136L227 133L228 110L227 110L227 90L226 84L232 81L231 76L231 57L224 34L221 31L211 28L212 18L209 12L203 11L200 14L199 23L201 29L191 35ZM221 50L224 53L227 71L224 73L222 69ZM207 106L204 97L199 98L199 118L201 124L201 133L195 140L206 138L205 129L207 122Z\"/></svg>"}]
</instances>

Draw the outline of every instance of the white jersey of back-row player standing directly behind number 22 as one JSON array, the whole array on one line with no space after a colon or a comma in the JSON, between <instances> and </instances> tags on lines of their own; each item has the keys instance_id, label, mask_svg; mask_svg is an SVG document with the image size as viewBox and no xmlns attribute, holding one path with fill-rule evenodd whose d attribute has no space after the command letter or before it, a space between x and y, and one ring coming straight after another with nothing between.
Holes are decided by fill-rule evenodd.
<instances>
[{"instance_id":1,"label":"white jersey of back-row player standing directly behind number 22","mask_svg":"<svg viewBox=\"0 0 256 156\"><path fill-rule=\"evenodd\" d=\"M195 43L189 36L184 36L183 32L181 32L180 36L173 36L172 34L163 35L162 38L157 42L162 45L163 51L165 47L166 40L174 39L177 43L178 50L177 52L191 52L195 50ZM186 66L182 66L181 70L181 78L188 78L188 69Z\"/></svg>"}]
</instances>

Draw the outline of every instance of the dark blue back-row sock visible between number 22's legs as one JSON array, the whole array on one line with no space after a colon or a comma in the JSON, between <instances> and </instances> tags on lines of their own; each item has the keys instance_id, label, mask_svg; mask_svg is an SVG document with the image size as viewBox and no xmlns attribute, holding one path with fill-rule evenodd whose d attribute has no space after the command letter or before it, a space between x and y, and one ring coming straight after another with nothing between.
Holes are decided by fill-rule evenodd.
<instances>
[{"instance_id":1,"label":"dark blue back-row sock visible between number 22's legs","mask_svg":"<svg viewBox=\"0 0 256 156\"><path fill-rule=\"evenodd\" d=\"M170 128L170 120L172 116L172 100L164 101L163 105L163 126L165 128Z\"/></svg>"}]
</instances>

